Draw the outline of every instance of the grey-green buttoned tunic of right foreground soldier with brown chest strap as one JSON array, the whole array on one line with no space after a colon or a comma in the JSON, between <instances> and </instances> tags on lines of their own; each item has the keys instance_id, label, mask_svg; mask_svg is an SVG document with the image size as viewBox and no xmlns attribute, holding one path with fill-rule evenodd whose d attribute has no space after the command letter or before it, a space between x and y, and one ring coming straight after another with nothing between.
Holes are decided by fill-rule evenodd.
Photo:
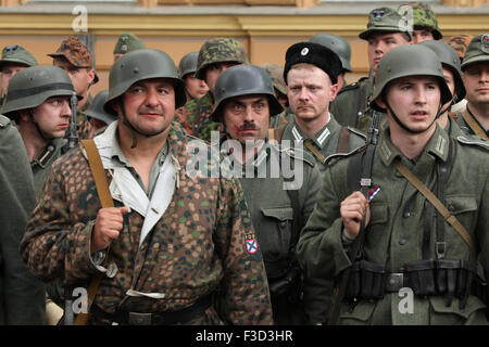
<instances>
[{"instance_id":1,"label":"grey-green buttoned tunic of right foreground soldier with brown chest strap","mask_svg":"<svg viewBox=\"0 0 489 347\"><path fill-rule=\"evenodd\" d=\"M428 189L436 181L436 160L447 160L449 136L437 127L414 163L404 157L389 139L388 128L380 136L373 163L373 181L380 191L369 203L371 220L365 229L363 258L402 272L406 262L422 259L422 236L426 198L392 166L400 157ZM446 259L478 257L489 274L489 155L480 139L460 136L453 139L451 174L444 191L448 208L471 234L478 254L474 255L459 233L444 223ZM352 193L348 187L348 164L339 160L327 170L317 205L298 242L298 259L308 277L334 279L351 262L341 241L341 202ZM430 253L435 255L436 226L430 233ZM385 294L379 300L360 300L350 308L341 306L339 324L463 324L485 323L482 301L469 296L466 307L459 299L446 306L446 298L414 297L413 313L401 313L399 293ZM448 314L450 313L450 314Z\"/></svg>"}]
</instances>

